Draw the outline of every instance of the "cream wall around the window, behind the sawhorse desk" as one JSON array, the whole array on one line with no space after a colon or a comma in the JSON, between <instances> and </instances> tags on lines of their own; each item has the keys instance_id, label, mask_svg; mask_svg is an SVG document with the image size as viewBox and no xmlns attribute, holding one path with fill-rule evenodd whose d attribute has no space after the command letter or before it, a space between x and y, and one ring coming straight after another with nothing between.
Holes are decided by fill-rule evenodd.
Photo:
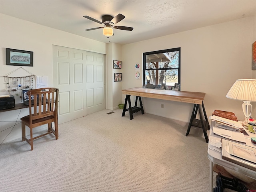
<instances>
[{"instance_id":1,"label":"cream wall around the window, behind the sawhorse desk","mask_svg":"<svg viewBox=\"0 0 256 192\"><path fill-rule=\"evenodd\" d=\"M134 78L134 64L142 64L143 52L181 47L181 90L205 92L207 116L219 109L232 111L239 120L244 120L242 102L225 96L236 79L252 78L251 45L255 39L255 20L255 17L242 18L123 45L122 88L142 87L142 78ZM193 104L150 98L142 98L142 103L146 113L185 122L189 121L193 108ZM256 117L255 110L252 116Z\"/></svg>"}]
</instances>

